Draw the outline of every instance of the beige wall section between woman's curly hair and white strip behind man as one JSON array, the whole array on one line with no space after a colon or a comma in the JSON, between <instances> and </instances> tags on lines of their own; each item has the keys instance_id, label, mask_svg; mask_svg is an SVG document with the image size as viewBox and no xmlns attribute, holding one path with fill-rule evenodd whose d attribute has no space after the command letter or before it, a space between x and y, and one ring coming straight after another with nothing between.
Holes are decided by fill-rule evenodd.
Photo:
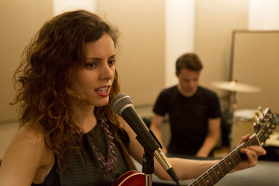
<instances>
[{"instance_id":1,"label":"beige wall section between woman's curly hair and white strip behind man","mask_svg":"<svg viewBox=\"0 0 279 186\"><path fill-rule=\"evenodd\" d=\"M165 85L165 1L100 0L97 10L121 32L122 92L137 106L153 104Z\"/></svg>"}]
</instances>

